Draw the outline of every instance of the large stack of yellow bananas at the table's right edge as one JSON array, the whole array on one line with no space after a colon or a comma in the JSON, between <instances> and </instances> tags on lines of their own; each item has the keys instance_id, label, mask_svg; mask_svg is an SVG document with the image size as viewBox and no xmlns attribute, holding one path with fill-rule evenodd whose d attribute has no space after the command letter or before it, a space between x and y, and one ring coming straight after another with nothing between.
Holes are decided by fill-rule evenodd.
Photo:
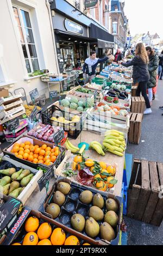
<instances>
[{"instance_id":1,"label":"large stack of yellow bananas at the table's right edge","mask_svg":"<svg viewBox=\"0 0 163 256\"><path fill-rule=\"evenodd\" d=\"M118 156L123 156L126 147L124 133L117 130L106 131L103 146L105 147L105 151L109 151Z\"/></svg>"}]
</instances>

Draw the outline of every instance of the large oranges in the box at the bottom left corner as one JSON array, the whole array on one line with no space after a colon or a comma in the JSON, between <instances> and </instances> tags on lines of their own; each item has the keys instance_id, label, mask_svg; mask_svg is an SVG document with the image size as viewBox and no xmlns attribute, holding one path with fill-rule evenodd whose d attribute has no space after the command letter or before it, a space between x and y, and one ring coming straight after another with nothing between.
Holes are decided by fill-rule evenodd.
<instances>
[{"instance_id":1,"label":"large oranges in the box at the bottom left corner","mask_svg":"<svg viewBox=\"0 0 163 256\"><path fill-rule=\"evenodd\" d=\"M23 237L23 241L14 242L12 245L80 245L78 237L74 235L66 237L63 229L52 229L48 222L40 224L36 216L29 217L24 228L27 234ZM90 244L83 243L83 245Z\"/></svg>"}]
</instances>

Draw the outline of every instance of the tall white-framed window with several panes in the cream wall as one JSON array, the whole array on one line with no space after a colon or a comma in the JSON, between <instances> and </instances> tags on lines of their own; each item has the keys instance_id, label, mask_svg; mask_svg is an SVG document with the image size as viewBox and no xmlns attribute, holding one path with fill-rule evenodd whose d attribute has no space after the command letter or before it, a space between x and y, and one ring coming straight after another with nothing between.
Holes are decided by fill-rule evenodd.
<instances>
[{"instance_id":1,"label":"tall white-framed window with several panes in the cream wall","mask_svg":"<svg viewBox=\"0 0 163 256\"><path fill-rule=\"evenodd\" d=\"M33 29L28 11L13 7L28 73L39 70Z\"/></svg>"}]
</instances>

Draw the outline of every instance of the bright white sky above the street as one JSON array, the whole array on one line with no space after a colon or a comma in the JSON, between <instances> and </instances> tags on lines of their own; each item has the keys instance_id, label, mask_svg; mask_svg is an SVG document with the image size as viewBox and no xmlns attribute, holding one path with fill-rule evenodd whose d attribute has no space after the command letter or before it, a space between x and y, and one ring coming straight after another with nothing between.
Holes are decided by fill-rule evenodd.
<instances>
[{"instance_id":1,"label":"bright white sky above the street","mask_svg":"<svg viewBox=\"0 0 163 256\"><path fill-rule=\"evenodd\" d=\"M149 31L163 39L163 0L125 0L124 14L132 36Z\"/></svg>"}]
</instances>

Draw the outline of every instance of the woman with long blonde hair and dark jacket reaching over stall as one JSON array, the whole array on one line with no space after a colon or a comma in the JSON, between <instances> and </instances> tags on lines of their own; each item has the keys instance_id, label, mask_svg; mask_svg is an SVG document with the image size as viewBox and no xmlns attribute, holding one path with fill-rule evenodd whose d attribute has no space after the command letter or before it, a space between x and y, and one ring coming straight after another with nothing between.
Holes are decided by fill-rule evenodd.
<instances>
[{"instance_id":1,"label":"woman with long blonde hair and dark jacket reaching over stall","mask_svg":"<svg viewBox=\"0 0 163 256\"><path fill-rule=\"evenodd\" d=\"M123 66L133 66L133 80L134 84L139 83L137 87L136 96L140 96L140 93L146 101L146 111L144 114L152 113L149 99L147 96L147 82L149 80L148 71L149 58L145 46L142 42L136 45L135 57L127 63L123 63Z\"/></svg>"}]
</instances>

